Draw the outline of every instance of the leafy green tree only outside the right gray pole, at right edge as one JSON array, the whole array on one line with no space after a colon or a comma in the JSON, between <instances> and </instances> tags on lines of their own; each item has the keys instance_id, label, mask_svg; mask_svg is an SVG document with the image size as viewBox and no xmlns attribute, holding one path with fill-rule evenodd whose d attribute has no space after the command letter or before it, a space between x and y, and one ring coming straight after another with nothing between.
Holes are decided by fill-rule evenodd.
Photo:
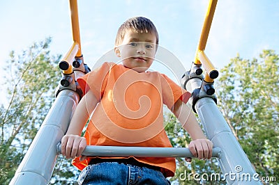
<instances>
[{"instance_id":1,"label":"leafy green tree only outside the right gray pole, at right edge","mask_svg":"<svg viewBox=\"0 0 279 185\"><path fill-rule=\"evenodd\" d=\"M279 56L264 50L259 59L236 56L217 83L218 105L255 170L279 177Z\"/></svg>"}]
</instances>

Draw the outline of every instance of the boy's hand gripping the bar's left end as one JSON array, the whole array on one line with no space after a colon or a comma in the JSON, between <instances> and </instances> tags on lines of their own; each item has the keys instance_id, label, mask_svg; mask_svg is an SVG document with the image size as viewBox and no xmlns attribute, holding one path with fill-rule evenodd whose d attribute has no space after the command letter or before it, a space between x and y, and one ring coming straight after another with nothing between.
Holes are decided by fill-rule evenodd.
<instances>
[{"instance_id":1,"label":"boy's hand gripping the bar's left end","mask_svg":"<svg viewBox=\"0 0 279 185\"><path fill-rule=\"evenodd\" d=\"M86 139L77 135L65 135L61 139L61 154L67 159L74 159L76 156L81 156L86 147ZM82 161L84 157L80 160Z\"/></svg>"}]
</instances>

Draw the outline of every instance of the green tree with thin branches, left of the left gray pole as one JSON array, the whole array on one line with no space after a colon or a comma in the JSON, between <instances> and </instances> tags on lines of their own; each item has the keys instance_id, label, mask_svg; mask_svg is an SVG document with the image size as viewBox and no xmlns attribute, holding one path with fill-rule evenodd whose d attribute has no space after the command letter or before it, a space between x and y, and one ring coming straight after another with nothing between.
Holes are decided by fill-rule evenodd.
<instances>
[{"instance_id":1,"label":"green tree with thin branches, left of the left gray pole","mask_svg":"<svg viewBox=\"0 0 279 185\"><path fill-rule=\"evenodd\" d=\"M51 38L36 42L29 49L16 54L10 52L4 77L8 104L0 106L0 184L8 184L22 161L29 145L54 102L54 89L61 74L57 64L61 55L50 54ZM64 182L59 175L70 163L60 159L54 170L55 182ZM57 177L58 176L58 177ZM63 184L63 183L61 183Z\"/></svg>"}]
</instances>

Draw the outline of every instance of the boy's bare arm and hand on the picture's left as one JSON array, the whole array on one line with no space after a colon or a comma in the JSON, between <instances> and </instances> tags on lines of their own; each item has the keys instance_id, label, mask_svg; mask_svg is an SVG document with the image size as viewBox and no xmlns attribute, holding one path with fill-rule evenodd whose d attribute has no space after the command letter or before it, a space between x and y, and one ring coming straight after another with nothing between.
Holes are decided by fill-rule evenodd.
<instances>
[{"instance_id":1,"label":"boy's bare arm and hand on the picture's left","mask_svg":"<svg viewBox=\"0 0 279 185\"><path fill-rule=\"evenodd\" d=\"M84 128L89 116L98 104L93 92L89 90L77 104L73 118L70 120L68 130L61 139L61 154L67 159L81 156L86 147L86 139L81 137L82 129Z\"/></svg>"}]
</instances>

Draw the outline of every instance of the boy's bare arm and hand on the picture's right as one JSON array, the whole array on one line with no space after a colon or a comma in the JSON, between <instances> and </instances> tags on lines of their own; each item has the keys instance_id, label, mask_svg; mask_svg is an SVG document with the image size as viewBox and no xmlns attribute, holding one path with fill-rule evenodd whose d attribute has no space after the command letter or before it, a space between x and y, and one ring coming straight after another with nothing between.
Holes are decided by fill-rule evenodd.
<instances>
[{"instance_id":1,"label":"boy's bare arm and hand on the picture's right","mask_svg":"<svg viewBox=\"0 0 279 185\"><path fill-rule=\"evenodd\" d=\"M179 99L174 104L172 111L192 138L188 145L190 152L198 159L210 159L213 143L204 136L191 108ZM187 161L190 161L190 159L187 159Z\"/></svg>"}]
</instances>

